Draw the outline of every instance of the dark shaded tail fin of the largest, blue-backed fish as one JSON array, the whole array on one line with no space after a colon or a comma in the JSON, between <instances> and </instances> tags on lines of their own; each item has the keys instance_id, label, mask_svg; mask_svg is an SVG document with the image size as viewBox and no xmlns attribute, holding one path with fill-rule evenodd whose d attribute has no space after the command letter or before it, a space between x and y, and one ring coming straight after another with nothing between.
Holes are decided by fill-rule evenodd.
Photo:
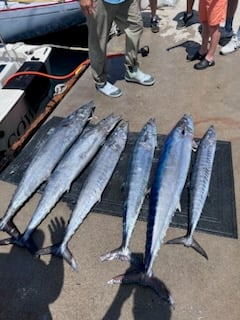
<instances>
[{"instance_id":1,"label":"dark shaded tail fin of the largest, blue-backed fish","mask_svg":"<svg viewBox=\"0 0 240 320\"><path fill-rule=\"evenodd\" d=\"M142 271L129 271L108 281L108 284L137 284L151 288L161 300L174 308L174 301L166 285L157 277L148 276Z\"/></svg>"}]
</instances>

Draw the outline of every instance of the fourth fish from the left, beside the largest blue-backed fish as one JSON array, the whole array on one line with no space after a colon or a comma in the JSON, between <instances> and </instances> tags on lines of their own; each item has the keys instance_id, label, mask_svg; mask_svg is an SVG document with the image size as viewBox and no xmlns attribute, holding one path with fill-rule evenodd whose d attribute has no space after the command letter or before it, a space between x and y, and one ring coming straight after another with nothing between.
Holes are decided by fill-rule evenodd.
<instances>
[{"instance_id":1,"label":"fourth fish from the left, beside the largest blue-backed fish","mask_svg":"<svg viewBox=\"0 0 240 320\"><path fill-rule=\"evenodd\" d=\"M129 242L144 197L147 193L154 151L157 146L157 127L154 119L150 119L142 128L134 145L130 160L130 169L126 182L126 200L123 211L123 235L120 248L101 257L106 260L131 260Z\"/></svg>"}]
</instances>

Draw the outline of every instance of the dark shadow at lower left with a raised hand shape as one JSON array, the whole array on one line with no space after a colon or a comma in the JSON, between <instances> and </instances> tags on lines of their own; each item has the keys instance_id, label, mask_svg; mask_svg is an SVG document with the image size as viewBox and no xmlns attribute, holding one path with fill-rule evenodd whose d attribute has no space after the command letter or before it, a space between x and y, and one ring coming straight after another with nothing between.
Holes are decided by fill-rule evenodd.
<instances>
[{"instance_id":1,"label":"dark shadow at lower left with a raised hand shape","mask_svg":"<svg viewBox=\"0 0 240 320\"><path fill-rule=\"evenodd\" d=\"M49 226L53 243L59 240L63 221ZM34 240L41 247L44 235L36 231ZM64 279L63 260L50 258L48 264L27 250L12 246L9 254L0 254L0 319L50 320L49 304L59 296Z\"/></svg>"}]
</instances>

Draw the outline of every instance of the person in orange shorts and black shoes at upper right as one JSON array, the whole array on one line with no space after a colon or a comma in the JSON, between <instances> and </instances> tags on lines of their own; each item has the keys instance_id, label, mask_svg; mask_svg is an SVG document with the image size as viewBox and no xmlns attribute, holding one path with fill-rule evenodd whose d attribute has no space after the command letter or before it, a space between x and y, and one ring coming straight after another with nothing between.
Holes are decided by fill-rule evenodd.
<instances>
[{"instance_id":1,"label":"person in orange shorts and black shoes at upper right","mask_svg":"<svg viewBox=\"0 0 240 320\"><path fill-rule=\"evenodd\" d=\"M194 55L194 58L200 60L194 65L196 70L204 70L215 65L215 51L221 37L220 24L225 22L226 14L227 0L199 0L202 44Z\"/></svg>"}]
</instances>

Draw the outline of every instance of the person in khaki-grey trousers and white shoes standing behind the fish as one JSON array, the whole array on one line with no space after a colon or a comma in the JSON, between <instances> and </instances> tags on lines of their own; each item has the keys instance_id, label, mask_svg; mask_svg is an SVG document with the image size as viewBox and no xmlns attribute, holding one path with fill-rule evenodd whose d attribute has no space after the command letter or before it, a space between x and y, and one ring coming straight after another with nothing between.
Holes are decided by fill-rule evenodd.
<instances>
[{"instance_id":1,"label":"person in khaki-grey trousers and white shoes standing behind the fish","mask_svg":"<svg viewBox=\"0 0 240 320\"><path fill-rule=\"evenodd\" d=\"M107 81L106 53L113 21L126 34L125 80L144 86L154 84L154 78L142 72L138 64L143 20L137 0L80 0L88 26L89 59L96 89L109 97L119 97L122 91Z\"/></svg>"}]
</instances>

